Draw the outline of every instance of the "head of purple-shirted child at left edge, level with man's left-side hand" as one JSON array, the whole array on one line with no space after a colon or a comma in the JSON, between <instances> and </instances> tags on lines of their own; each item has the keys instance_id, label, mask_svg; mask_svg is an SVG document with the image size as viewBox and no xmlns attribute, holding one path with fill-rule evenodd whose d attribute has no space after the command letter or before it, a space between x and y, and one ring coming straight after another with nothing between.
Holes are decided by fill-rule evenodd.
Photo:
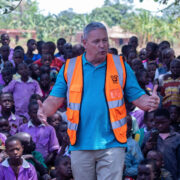
<instances>
[{"instance_id":1,"label":"head of purple-shirted child at left edge, level with man's left-side hand","mask_svg":"<svg viewBox=\"0 0 180 180\"><path fill-rule=\"evenodd\" d=\"M2 111L10 112L14 105L13 95L9 92L3 92L0 94L0 105Z\"/></svg>"}]
</instances>

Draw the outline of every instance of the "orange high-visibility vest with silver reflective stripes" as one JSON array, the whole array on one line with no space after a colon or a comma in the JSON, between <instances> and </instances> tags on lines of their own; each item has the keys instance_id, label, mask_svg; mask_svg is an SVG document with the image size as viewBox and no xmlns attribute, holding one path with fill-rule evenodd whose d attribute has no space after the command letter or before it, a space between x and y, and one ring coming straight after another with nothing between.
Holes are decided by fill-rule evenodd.
<instances>
[{"instance_id":1,"label":"orange high-visibility vest with silver reflective stripes","mask_svg":"<svg viewBox=\"0 0 180 180\"><path fill-rule=\"evenodd\" d=\"M64 69L67 82L67 133L71 145L76 143L76 134L80 119L80 107L83 93L82 56L68 59ZM126 143L126 107L123 88L126 81L126 71L122 56L107 54L107 69L105 80L105 95L109 109L109 117L114 135L120 143ZM104 92L102 92L104 93ZM88 127L87 127L88 128Z\"/></svg>"}]
</instances>

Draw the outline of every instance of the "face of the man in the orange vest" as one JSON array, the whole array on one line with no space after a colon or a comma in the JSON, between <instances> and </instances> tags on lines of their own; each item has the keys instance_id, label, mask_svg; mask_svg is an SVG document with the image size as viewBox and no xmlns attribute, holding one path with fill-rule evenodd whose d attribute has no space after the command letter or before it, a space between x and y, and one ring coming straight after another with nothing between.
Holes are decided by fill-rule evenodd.
<instances>
[{"instance_id":1,"label":"face of the man in the orange vest","mask_svg":"<svg viewBox=\"0 0 180 180\"><path fill-rule=\"evenodd\" d=\"M108 35L104 29L92 30L83 40L87 58L91 61L103 62L109 49Z\"/></svg>"}]
</instances>

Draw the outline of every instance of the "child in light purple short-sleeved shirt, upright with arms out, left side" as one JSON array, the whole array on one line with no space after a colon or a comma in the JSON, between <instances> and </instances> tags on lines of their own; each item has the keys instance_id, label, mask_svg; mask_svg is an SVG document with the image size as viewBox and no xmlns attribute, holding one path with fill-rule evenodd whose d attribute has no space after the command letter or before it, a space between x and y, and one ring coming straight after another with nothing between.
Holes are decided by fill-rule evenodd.
<instances>
[{"instance_id":1,"label":"child in light purple short-sleeved shirt, upright with arms out, left side","mask_svg":"<svg viewBox=\"0 0 180 180\"><path fill-rule=\"evenodd\" d=\"M28 117L28 104L31 95L39 94L42 96L42 92L38 82L29 77L28 66L25 63L18 65L18 73L21 75L21 79L12 80L2 91L13 94L15 113Z\"/></svg>"}]
</instances>

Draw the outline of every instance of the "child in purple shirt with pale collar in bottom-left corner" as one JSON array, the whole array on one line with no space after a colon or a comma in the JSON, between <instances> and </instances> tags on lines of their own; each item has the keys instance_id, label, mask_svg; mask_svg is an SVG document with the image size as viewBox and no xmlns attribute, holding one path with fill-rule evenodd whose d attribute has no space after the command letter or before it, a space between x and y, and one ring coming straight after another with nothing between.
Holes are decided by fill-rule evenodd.
<instances>
[{"instance_id":1,"label":"child in purple shirt with pale collar in bottom-left corner","mask_svg":"<svg viewBox=\"0 0 180 180\"><path fill-rule=\"evenodd\" d=\"M9 158L0 164L0 180L37 180L33 165L22 158L23 147L20 140L9 137L5 146Z\"/></svg>"}]
</instances>

